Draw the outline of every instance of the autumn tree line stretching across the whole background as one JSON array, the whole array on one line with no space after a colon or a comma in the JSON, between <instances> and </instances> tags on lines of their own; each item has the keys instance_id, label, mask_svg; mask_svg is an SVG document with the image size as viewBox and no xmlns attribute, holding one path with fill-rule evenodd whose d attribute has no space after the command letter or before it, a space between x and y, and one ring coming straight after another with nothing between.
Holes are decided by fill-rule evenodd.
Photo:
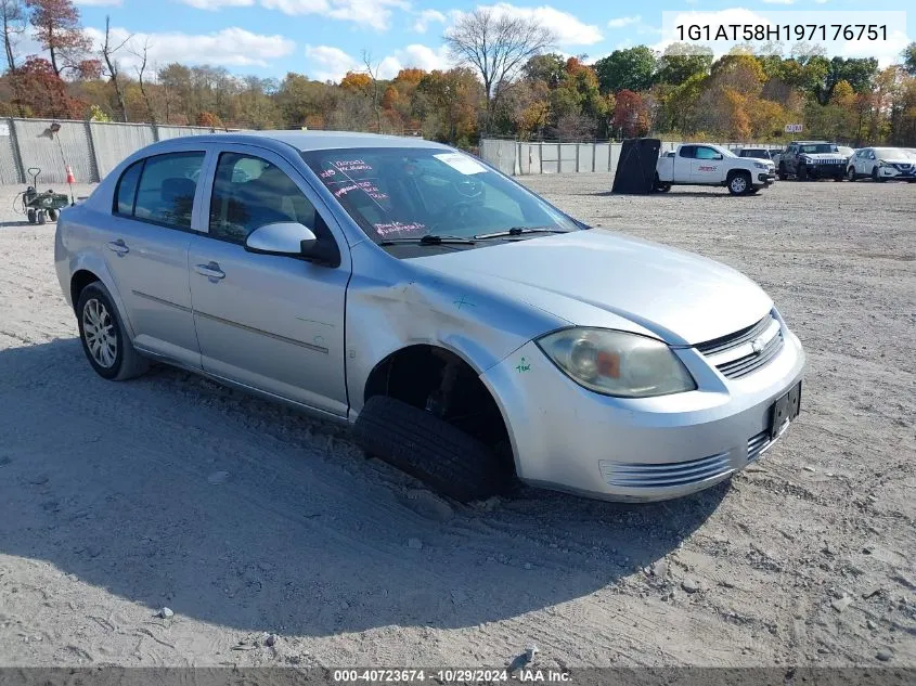
<instances>
[{"instance_id":1,"label":"autumn tree line stretching across the whole background","mask_svg":"<svg viewBox=\"0 0 916 686\"><path fill-rule=\"evenodd\" d=\"M404 68L385 79L364 53L364 68L321 81L159 66L149 42L116 40L107 20L93 46L73 0L0 0L0 22L2 116L350 129L462 147L483 135L777 142L787 124L802 124L804 138L916 145L916 43L885 68L803 43L788 55L779 44L739 46L719 59L686 44L661 53L636 46L590 64L554 51L550 27L480 8L443 35L453 68ZM28 34L42 53L21 57Z\"/></svg>"}]
</instances>

